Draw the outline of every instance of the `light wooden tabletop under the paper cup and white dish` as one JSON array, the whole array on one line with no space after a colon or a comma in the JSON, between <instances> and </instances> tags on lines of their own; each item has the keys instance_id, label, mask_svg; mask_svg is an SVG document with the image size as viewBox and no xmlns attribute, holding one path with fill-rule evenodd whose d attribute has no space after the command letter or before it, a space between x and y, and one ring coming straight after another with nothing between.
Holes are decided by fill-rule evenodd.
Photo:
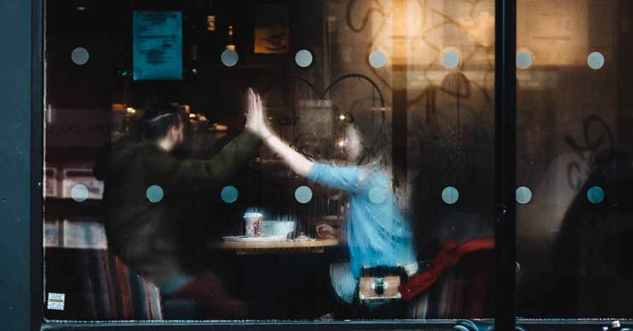
<instances>
[{"instance_id":1,"label":"light wooden tabletop under the paper cup and white dish","mask_svg":"<svg viewBox=\"0 0 633 331\"><path fill-rule=\"evenodd\" d=\"M326 247L338 246L338 239L312 240L312 241L222 241L214 242L211 247L214 249L234 250L238 255L245 254L271 254L271 253L322 253Z\"/></svg>"}]
</instances>

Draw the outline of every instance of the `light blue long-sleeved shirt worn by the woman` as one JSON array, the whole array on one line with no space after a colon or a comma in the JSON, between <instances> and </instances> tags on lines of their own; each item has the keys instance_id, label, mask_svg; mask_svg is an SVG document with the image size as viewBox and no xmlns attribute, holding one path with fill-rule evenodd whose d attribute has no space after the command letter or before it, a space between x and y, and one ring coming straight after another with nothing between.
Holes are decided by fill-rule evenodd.
<instances>
[{"instance_id":1,"label":"light blue long-sleeved shirt worn by the woman","mask_svg":"<svg viewBox=\"0 0 633 331\"><path fill-rule=\"evenodd\" d=\"M416 261L411 225L400 214L383 171L314 163L307 178L350 195L347 244L354 278L359 278L362 266L405 266Z\"/></svg>"}]
</instances>

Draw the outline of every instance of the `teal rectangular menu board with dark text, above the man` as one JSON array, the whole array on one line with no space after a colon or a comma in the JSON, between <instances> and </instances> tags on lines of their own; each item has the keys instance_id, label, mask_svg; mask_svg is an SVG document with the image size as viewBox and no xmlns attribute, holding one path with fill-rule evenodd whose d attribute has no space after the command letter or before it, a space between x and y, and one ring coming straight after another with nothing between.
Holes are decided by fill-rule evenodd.
<instances>
[{"instance_id":1,"label":"teal rectangular menu board with dark text, above the man","mask_svg":"<svg viewBox=\"0 0 633 331\"><path fill-rule=\"evenodd\" d=\"M135 11L134 80L182 79L182 13Z\"/></svg>"}]
</instances>

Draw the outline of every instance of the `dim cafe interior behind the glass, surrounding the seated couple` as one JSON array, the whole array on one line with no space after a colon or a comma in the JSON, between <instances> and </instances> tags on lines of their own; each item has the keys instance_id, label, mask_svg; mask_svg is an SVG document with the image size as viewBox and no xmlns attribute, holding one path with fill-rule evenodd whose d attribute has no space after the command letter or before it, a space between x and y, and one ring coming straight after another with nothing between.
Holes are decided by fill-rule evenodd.
<instances>
[{"instance_id":1,"label":"dim cafe interior behind the glass, surrounding the seated couple","mask_svg":"<svg viewBox=\"0 0 633 331\"><path fill-rule=\"evenodd\" d=\"M603 177L592 171L632 138L622 129L632 119L622 74L632 6L597 6L518 1L520 316L631 313L603 294L616 283L633 292L620 259L628 211L582 200L595 186L625 199L619 184L594 185ZM250 88L271 131L312 162L365 167L348 160L357 128L365 161L390 179L368 203L393 199L410 225L416 272L398 288L415 293L388 298L391 278L373 275L370 292L385 304L362 305L371 301L362 280L352 303L341 297L352 193L300 176L264 141L222 185L192 189L186 206L198 219L177 223L183 263L221 265L231 286L217 291L247 307L220 319L494 317L492 0L61 0L46 1L44 16L44 287L65 300L47 320L217 319L113 249L115 207L94 169L114 146L138 143L165 105L184 131L172 157L211 160L246 130ZM143 199L156 206L169 195L150 186ZM600 213L611 226L584 216Z\"/></svg>"}]
</instances>

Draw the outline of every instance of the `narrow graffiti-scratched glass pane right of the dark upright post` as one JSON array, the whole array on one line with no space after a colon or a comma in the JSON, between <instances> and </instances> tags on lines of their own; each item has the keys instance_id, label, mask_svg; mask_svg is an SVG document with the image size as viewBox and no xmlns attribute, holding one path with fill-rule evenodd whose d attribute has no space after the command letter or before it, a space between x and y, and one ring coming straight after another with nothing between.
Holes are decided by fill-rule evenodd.
<instances>
[{"instance_id":1,"label":"narrow graffiti-scratched glass pane right of the dark upright post","mask_svg":"<svg viewBox=\"0 0 633 331\"><path fill-rule=\"evenodd\" d=\"M631 318L626 1L518 1L518 316Z\"/></svg>"}]
</instances>

